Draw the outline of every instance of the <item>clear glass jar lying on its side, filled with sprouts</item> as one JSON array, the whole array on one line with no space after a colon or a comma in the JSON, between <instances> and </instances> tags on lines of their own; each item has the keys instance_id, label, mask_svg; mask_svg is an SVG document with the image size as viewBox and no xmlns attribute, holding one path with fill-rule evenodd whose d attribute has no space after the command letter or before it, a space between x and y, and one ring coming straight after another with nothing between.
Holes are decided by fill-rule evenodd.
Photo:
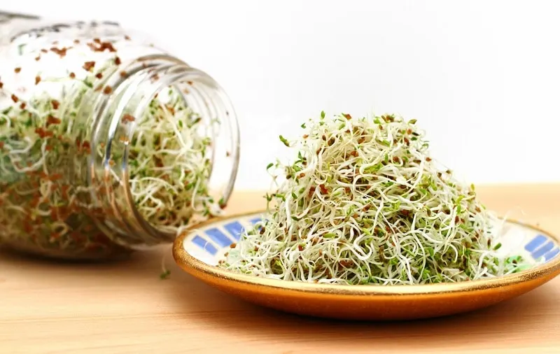
<instances>
[{"instance_id":1,"label":"clear glass jar lying on its side, filled with sprouts","mask_svg":"<svg viewBox=\"0 0 560 354\"><path fill-rule=\"evenodd\" d=\"M0 243L104 259L221 213L239 162L227 95L113 22L0 13Z\"/></svg>"}]
</instances>

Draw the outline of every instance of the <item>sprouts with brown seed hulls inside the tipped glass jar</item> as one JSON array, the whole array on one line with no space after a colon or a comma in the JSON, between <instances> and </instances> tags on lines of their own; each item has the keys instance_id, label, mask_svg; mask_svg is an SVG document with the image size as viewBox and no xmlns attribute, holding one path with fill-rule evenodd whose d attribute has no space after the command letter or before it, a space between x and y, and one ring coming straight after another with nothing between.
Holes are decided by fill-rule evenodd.
<instances>
[{"instance_id":1,"label":"sprouts with brown seed hulls inside the tipped glass jar","mask_svg":"<svg viewBox=\"0 0 560 354\"><path fill-rule=\"evenodd\" d=\"M186 103L187 88L159 90L141 115L117 117L116 132L128 134L92 141L107 125L92 117L93 102L116 94L108 79L125 80L128 62L160 51L109 24L40 32L0 47L0 243L54 255L124 250L108 207L109 189L125 183L115 164L141 218L161 232L176 233L195 213L220 213L223 201L208 190L208 122ZM120 156L106 157L109 144ZM96 160L106 165L101 181L88 174Z\"/></svg>"}]
</instances>

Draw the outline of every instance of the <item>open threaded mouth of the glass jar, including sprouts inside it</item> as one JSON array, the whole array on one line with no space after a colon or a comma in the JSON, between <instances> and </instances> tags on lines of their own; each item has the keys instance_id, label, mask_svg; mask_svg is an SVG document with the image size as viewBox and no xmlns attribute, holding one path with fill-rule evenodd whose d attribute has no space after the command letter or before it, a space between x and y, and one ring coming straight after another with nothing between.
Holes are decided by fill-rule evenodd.
<instances>
[{"instance_id":1,"label":"open threaded mouth of the glass jar, including sprouts inside it","mask_svg":"<svg viewBox=\"0 0 560 354\"><path fill-rule=\"evenodd\" d=\"M109 227L127 244L151 245L221 213L237 177L239 128L216 81L172 57L152 56L108 85L113 98L99 107L106 128L92 141L104 150L94 173L104 176Z\"/></svg>"}]
</instances>

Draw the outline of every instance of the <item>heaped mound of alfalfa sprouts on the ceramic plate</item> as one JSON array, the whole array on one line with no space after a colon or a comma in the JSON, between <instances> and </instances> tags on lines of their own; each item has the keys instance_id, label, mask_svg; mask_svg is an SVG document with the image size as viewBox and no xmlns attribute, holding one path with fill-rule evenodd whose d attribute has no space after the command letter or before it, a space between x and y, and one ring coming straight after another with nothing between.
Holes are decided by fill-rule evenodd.
<instances>
[{"instance_id":1,"label":"heaped mound of alfalfa sprouts on the ceramic plate","mask_svg":"<svg viewBox=\"0 0 560 354\"><path fill-rule=\"evenodd\" d=\"M279 187L266 195L267 215L221 267L351 285L469 281L524 267L520 256L498 256L500 220L474 185L432 160L416 120L321 113L307 126L299 141L280 136L297 160L269 164Z\"/></svg>"}]
</instances>

